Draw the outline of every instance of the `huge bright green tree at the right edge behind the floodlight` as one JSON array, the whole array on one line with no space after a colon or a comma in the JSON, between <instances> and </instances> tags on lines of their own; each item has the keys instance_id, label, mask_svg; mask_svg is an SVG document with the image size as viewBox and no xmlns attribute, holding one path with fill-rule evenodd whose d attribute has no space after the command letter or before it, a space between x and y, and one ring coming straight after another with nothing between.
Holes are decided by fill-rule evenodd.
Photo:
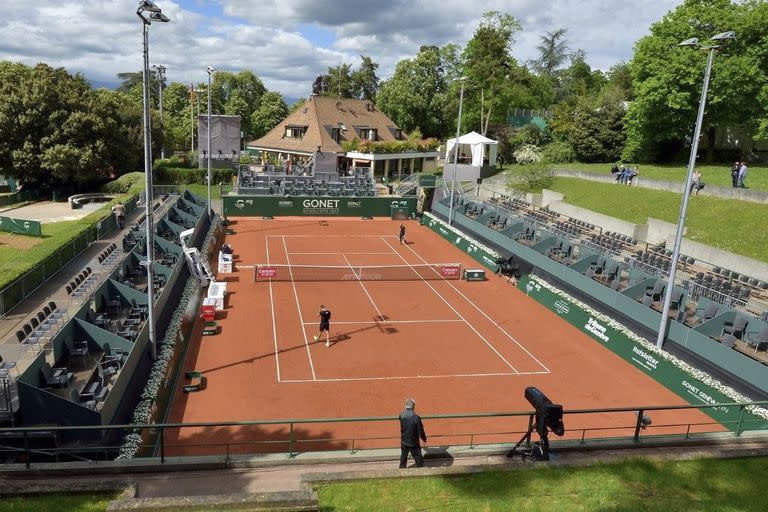
<instances>
[{"instance_id":1,"label":"huge bright green tree at the right edge behind the floodlight","mask_svg":"<svg viewBox=\"0 0 768 512\"><path fill-rule=\"evenodd\" d=\"M636 98L628 113L625 159L657 161L684 154L693 134L706 53L677 43L690 37L707 43L727 30L735 30L738 41L714 59L702 150L713 160L718 127L739 126L749 136L768 137L768 3L685 0L636 44L630 65Z\"/></svg>"}]
</instances>

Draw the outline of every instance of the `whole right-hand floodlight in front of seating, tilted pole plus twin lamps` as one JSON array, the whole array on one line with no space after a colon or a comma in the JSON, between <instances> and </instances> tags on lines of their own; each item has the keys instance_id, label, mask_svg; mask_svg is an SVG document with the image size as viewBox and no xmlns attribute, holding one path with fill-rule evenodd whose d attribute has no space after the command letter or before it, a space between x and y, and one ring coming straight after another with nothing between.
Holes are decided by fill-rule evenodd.
<instances>
[{"instance_id":1,"label":"whole right-hand floodlight in front of seating, tilted pole plus twin lamps","mask_svg":"<svg viewBox=\"0 0 768 512\"><path fill-rule=\"evenodd\" d=\"M696 167L696 153L699 150L699 138L701 137L701 123L704 119L704 110L707 105L707 91L709 89L709 78L712 74L712 61L715 58L715 51L722 44L736 40L734 31L722 32L710 38L718 44L711 46L701 46L699 40L695 37L686 39L678 46L688 48L707 50L707 67L704 70L704 83L701 85L701 98L699 99L699 113L696 116L696 125L693 130L693 139L691 140L691 154L688 158L688 175L685 178L685 187L683 188L683 200L680 203L680 215L677 219L677 231L675 233L675 245L672 249L672 257L669 265L669 279L667 280L666 290L664 291L664 305L661 310L661 324L656 338L656 346L662 348L664 339L667 337L667 327L669 326L669 308L672 303L672 292L675 288L675 274L677 273L677 262L680 259L680 246L683 242L683 231L685 230L685 215L688 211L688 200L691 197L691 183L693 182L693 170Z\"/></svg>"}]
</instances>

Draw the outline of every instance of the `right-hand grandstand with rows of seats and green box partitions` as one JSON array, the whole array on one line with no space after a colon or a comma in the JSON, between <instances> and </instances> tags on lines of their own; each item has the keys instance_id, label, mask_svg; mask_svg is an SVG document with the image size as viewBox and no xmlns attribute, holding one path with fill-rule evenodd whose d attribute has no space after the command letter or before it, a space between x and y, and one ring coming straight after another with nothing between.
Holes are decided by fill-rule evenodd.
<instances>
[{"instance_id":1,"label":"right-hand grandstand with rows of seats and green box partitions","mask_svg":"<svg viewBox=\"0 0 768 512\"><path fill-rule=\"evenodd\" d=\"M436 196L433 211L447 217L450 197L447 189L442 192L442 199ZM599 298L591 299L601 307L627 319L627 324L638 332L649 332L649 336L653 336L653 331L658 330L671 256L663 244L653 245L605 231L600 226L508 195L479 200L460 192L454 197L454 215L462 229L469 228L480 240L499 248L502 254L533 254L516 251L514 242L517 242L562 265L562 270L545 272L539 268L538 271L561 284L566 281L572 284L575 288L571 291L577 296L585 297L589 292L574 284L578 278L572 282L564 280L565 275L570 275L565 273L565 268L599 283L606 290L599 292ZM689 359L703 362L715 374L726 372L734 385L755 396L765 396L768 393L764 379L764 365L768 364L768 284L687 255L681 255L677 265L678 281L672 293L670 317L674 324L685 329L672 328L670 337L679 335L686 342L677 346L673 340L667 348L685 352ZM651 310L647 321L641 325L634 315L635 306L619 306L613 294L631 298L636 306ZM645 315L642 311L638 311L639 314ZM701 335L700 344L690 344L689 330ZM673 334L675 332L679 334ZM751 377L745 379L745 376Z\"/></svg>"}]
</instances>

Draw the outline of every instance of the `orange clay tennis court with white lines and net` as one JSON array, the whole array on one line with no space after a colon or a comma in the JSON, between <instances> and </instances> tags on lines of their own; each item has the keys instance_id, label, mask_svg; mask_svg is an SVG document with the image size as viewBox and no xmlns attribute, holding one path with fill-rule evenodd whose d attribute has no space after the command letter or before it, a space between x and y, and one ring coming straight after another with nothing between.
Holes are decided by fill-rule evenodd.
<instances>
[{"instance_id":1,"label":"orange clay tennis court with white lines and net","mask_svg":"<svg viewBox=\"0 0 768 512\"><path fill-rule=\"evenodd\" d=\"M407 397L422 415L528 411L536 386L565 409L686 405L504 279L444 279L441 265L477 263L417 222L232 219L237 270L221 332L196 336L183 369L204 390L176 391L170 422L396 416ZM426 265L434 266L426 266ZM284 280L256 279L255 266ZM290 265L290 267L282 267ZM311 268L311 267L324 268ZM362 267L362 268L361 268ZM288 272L288 275L285 275ZM374 279L357 279L361 273ZM388 281L387 277L398 280ZM370 277L370 276L369 276ZM331 347L315 341L318 310L332 312ZM199 331L199 329L198 329ZM566 416L566 438L631 435L632 413ZM696 411L653 415L653 433L719 431ZM662 426L681 425L681 426ZM516 442L527 418L430 420L433 444ZM511 434L510 432L515 432ZM195 427L166 434L170 453L286 451L286 425ZM301 424L299 450L394 447L396 422ZM252 443L272 440L274 444ZM207 445L207 446L206 446Z\"/></svg>"}]
</instances>

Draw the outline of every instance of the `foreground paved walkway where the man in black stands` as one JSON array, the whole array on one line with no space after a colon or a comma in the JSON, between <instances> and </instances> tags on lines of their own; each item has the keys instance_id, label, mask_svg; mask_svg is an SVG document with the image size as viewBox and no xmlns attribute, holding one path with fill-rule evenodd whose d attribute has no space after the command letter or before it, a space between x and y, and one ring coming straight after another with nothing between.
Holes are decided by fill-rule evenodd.
<instances>
[{"instance_id":1,"label":"foreground paved walkway where the man in black stands","mask_svg":"<svg viewBox=\"0 0 768 512\"><path fill-rule=\"evenodd\" d=\"M427 450L428 453L429 449ZM304 463L263 465L262 467L240 467L234 469L194 470L163 472L118 473L104 471L91 464L87 478L81 474L87 466L75 465L64 471L70 476L50 474L15 476L0 475L0 492L39 492L40 489L75 491L93 489L130 488L131 494L142 499L204 497L214 495L254 495L264 493L306 491L312 484L370 478L403 478L437 475L476 473L488 469L523 469L542 466L585 466L595 463L610 463L628 457L649 457L660 460L685 460L698 457L743 457L766 456L768 444L764 437L729 438L709 446L643 447L630 449L569 450L562 453L555 450L549 462L523 461L515 456L507 459L501 452L484 452L475 449L473 454L428 458L426 467L405 470L397 468L399 451L381 450L379 460L322 463L322 459ZM370 456L367 456L370 457ZM190 470L191 469L191 470ZM76 473L77 472L77 473ZM61 473L59 473L61 474ZM132 500L127 500L132 501ZM172 503L172 502L171 502ZM167 503L170 505L170 503ZM213 510L213 509L212 509Z\"/></svg>"}]
</instances>

